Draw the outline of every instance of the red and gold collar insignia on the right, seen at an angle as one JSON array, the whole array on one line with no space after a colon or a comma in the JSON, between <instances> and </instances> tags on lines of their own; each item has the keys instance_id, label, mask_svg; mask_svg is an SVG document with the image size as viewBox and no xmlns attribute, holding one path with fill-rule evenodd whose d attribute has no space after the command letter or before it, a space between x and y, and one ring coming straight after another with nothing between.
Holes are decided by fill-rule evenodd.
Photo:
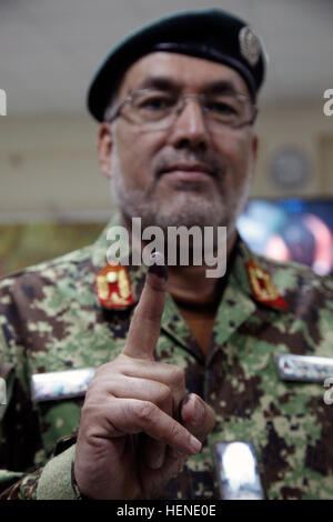
<instances>
[{"instance_id":1,"label":"red and gold collar insignia on the right, seen at an angle","mask_svg":"<svg viewBox=\"0 0 333 522\"><path fill-rule=\"evenodd\" d=\"M287 310L283 297L279 294L271 275L262 270L253 260L246 263L252 294L256 301L275 308Z\"/></svg>"}]
</instances>

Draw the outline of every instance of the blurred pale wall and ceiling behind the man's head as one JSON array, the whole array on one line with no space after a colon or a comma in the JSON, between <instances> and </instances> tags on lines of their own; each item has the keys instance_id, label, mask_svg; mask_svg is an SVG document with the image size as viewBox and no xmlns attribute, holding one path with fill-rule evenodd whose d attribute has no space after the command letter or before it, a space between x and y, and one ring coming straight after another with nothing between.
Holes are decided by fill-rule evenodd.
<instances>
[{"instance_id":1,"label":"blurred pale wall and ceiling behind the man's head","mask_svg":"<svg viewBox=\"0 0 333 522\"><path fill-rule=\"evenodd\" d=\"M22 241L27 223L103 223L114 211L97 162L98 126L85 111L87 88L108 50L157 17L208 7L249 20L270 57L252 195L333 198L333 116L323 113L324 91L333 89L331 0L1 0L2 273L80 247L101 228L83 227L81 242L78 234L65 244L58 239L58 250L42 250L37 259L21 253L10 264L13 225L21 227Z\"/></svg>"}]
</instances>

